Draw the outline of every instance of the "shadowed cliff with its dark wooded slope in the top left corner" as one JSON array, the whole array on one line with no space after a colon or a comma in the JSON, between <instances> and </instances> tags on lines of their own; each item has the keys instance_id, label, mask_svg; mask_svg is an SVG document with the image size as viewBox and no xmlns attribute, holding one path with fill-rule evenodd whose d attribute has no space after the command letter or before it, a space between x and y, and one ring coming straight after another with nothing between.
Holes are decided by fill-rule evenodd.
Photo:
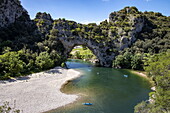
<instances>
[{"instance_id":1,"label":"shadowed cliff with its dark wooded slope in the top left corner","mask_svg":"<svg viewBox=\"0 0 170 113\"><path fill-rule=\"evenodd\" d=\"M41 40L41 33L19 0L0 0L0 54L6 47L13 51L37 48Z\"/></svg>"}]
</instances>

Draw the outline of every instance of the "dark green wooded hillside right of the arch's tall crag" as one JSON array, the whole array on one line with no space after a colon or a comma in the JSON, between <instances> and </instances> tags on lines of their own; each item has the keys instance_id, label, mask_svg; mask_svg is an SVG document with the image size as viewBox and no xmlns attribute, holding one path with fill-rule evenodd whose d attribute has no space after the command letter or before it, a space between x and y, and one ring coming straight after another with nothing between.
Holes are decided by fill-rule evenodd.
<instances>
[{"instance_id":1,"label":"dark green wooded hillside right of the arch's tall crag","mask_svg":"<svg viewBox=\"0 0 170 113\"><path fill-rule=\"evenodd\" d=\"M136 16L140 15L145 18L145 26L137 34L137 41L131 47L119 52L119 55L113 62L113 66L117 68L143 70L146 57L156 53L166 52L167 49L170 49L170 17L155 12L142 13L135 7L131 8L136 13ZM123 13L125 16L125 9L122 9L119 13ZM114 18L117 19L118 17Z\"/></svg>"}]
</instances>

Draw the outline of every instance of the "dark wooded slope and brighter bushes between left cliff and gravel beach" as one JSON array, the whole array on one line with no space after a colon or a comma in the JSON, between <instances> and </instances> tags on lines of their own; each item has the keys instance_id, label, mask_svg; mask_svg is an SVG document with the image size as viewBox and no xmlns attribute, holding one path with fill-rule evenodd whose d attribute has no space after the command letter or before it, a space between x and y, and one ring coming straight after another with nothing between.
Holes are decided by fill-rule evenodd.
<instances>
[{"instance_id":1,"label":"dark wooded slope and brighter bushes between left cliff and gravel beach","mask_svg":"<svg viewBox=\"0 0 170 113\"><path fill-rule=\"evenodd\" d=\"M60 42L38 30L28 14L0 30L0 79L46 70L65 60L63 47L56 49Z\"/></svg>"}]
</instances>

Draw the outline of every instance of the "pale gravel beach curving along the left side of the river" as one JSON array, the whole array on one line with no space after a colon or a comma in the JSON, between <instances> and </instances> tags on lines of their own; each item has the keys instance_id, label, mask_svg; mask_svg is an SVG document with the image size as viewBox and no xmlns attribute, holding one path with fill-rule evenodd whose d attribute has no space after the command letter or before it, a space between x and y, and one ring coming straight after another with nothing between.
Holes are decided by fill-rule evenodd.
<instances>
[{"instance_id":1,"label":"pale gravel beach curving along the left side of the river","mask_svg":"<svg viewBox=\"0 0 170 113\"><path fill-rule=\"evenodd\" d=\"M79 75L73 69L56 67L26 77L0 81L0 105L7 101L23 113L40 113L65 106L76 101L78 96L64 94L60 89L68 80Z\"/></svg>"}]
</instances>

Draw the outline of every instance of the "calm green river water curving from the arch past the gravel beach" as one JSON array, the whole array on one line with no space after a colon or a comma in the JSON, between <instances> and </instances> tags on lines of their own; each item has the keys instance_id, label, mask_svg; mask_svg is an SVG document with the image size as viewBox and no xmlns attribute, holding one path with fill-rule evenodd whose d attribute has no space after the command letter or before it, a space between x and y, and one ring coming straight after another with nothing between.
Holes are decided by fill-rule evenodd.
<instances>
[{"instance_id":1,"label":"calm green river water curving from the arch past the gravel beach","mask_svg":"<svg viewBox=\"0 0 170 113\"><path fill-rule=\"evenodd\" d=\"M128 70L94 67L75 60L68 61L67 65L80 71L81 76L70 81L61 91L78 94L80 98L48 113L133 113L137 103L149 98L149 81ZM85 102L93 105L82 105Z\"/></svg>"}]
</instances>

